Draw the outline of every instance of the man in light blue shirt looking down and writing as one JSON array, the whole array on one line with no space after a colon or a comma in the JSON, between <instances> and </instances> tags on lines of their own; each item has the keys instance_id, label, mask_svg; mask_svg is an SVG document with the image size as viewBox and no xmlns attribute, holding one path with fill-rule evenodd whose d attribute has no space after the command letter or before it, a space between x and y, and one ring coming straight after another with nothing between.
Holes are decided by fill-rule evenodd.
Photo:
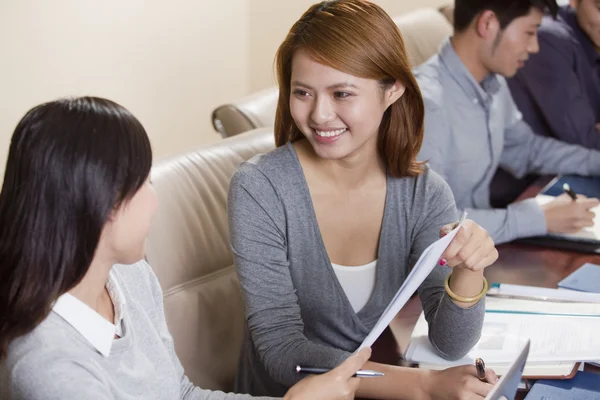
<instances>
[{"instance_id":1,"label":"man in light blue shirt looking down and writing","mask_svg":"<svg viewBox=\"0 0 600 400\"><path fill-rule=\"evenodd\" d=\"M538 51L537 30L555 0L456 0L455 34L416 70L425 100L419 159L448 182L456 204L497 243L593 224L597 199L560 196L491 208L498 168L528 173L600 175L600 152L535 135L523 121L504 77L514 76Z\"/></svg>"}]
</instances>

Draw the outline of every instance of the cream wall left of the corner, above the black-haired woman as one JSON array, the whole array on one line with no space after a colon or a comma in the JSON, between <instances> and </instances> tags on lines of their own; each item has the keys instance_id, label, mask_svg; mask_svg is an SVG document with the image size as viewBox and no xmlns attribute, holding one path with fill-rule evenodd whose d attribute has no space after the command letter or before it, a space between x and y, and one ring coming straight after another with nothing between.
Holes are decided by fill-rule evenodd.
<instances>
[{"instance_id":1,"label":"cream wall left of the corner, above the black-haired woman","mask_svg":"<svg viewBox=\"0 0 600 400\"><path fill-rule=\"evenodd\" d=\"M0 182L15 125L69 95L115 100L158 157L220 140L216 105L247 93L247 0L0 0Z\"/></svg>"}]
</instances>

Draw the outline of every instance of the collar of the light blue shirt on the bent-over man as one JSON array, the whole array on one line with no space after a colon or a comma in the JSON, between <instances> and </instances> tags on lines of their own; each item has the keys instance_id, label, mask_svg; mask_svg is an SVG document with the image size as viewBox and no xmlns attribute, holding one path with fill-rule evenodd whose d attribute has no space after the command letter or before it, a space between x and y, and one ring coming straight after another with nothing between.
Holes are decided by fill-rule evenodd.
<instances>
[{"instance_id":1,"label":"collar of the light blue shirt on the bent-over man","mask_svg":"<svg viewBox=\"0 0 600 400\"><path fill-rule=\"evenodd\" d=\"M440 60L473 102L486 103L500 90L500 82L496 74L488 74L481 84L475 80L471 71L456 54L450 38L442 43Z\"/></svg>"}]
</instances>

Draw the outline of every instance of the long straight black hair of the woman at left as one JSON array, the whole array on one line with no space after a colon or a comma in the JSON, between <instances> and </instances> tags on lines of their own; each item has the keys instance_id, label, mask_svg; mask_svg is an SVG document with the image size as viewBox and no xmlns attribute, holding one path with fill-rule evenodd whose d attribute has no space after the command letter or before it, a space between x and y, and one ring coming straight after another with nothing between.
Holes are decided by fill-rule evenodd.
<instances>
[{"instance_id":1,"label":"long straight black hair of the woman at left","mask_svg":"<svg viewBox=\"0 0 600 400\"><path fill-rule=\"evenodd\" d=\"M0 359L81 281L151 165L146 131L109 100L57 100L19 122L0 192Z\"/></svg>"}]
</instances>

